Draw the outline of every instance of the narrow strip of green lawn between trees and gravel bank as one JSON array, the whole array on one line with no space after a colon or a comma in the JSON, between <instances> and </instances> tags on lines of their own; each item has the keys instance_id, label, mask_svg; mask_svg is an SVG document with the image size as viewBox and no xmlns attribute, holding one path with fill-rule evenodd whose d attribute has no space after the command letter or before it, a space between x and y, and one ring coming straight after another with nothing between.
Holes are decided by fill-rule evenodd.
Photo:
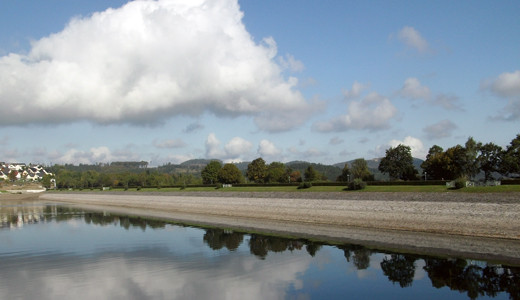
<instances>
[{"instance_id":1,"label":"narrow strip of green lawn between trees and gravel bank","mask_svg":"<svg viewBox=\"0 0 520 300\"><path fill-rule=\"evenodd\" d=\"M214 187L203 187L203 188L186 188L181 190L180 188L143 188L140 192L295 192L295 193L308 193L308 192L343 192L349 193L351 191L345 190L344 186L313 186L309 189L297 189L295 186L280 186L280 187L232 187L215 189ZM78 191L78 190L76 190ZM90 192L90 189L84 189L84 192ZM94 189L94 192L99 192L99 189ZM122 189L116 189L112 191L122 192ZM129 192L137 192L137 189L128 189ZM460 190L447 189L445 186L438 185L427 185L427 186L367 186L366 189L359 192L417 192L417 193L508 193L508 192L520 192L520 185L502 185L494 187L473 187L463 188Z\"/></svg>"}]
</instances>

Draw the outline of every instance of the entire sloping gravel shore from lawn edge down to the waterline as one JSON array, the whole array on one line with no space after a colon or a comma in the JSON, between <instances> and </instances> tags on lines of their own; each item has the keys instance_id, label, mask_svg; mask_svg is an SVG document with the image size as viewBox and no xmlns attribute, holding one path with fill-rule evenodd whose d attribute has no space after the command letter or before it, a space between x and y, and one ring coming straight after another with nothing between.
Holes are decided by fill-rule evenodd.
<instances>
[{"instance_id":1,"label":"entire sloping gravel shore from lawn edge down to the waterline","mask_svg":"<svg viewBox=\"0 0 520 300\"><path fill-rule=\"evenodd\" d=\"M233 193L233 195L226 196L226 192L220 193L218 197L206 197L204 193L190 194L191 197L181 196L176 192L150 194L152 195L109 192L46 193L39 195L39 198L33 196L27 200L65 203L102 213L157 218L195 227L219 227L250 233L314 239L331 244L360 244L394 252L465 257L520 266L520 252L518 251L520 249L520 237L518 236L520 233L520 218L518 218L520 204L487 203L490 200L489 195L463 199L462 202L455 202L455 199L442 201L440 198L442 195L437 195L437 201L419 202L417 197L426 195L415 195L414 197L412 195L405 197L394 195L393 198L389 197L390 200L382 201L381 195L367 194L365 194L365 199L368 200L352 198L292 199L293 195L285 195L289 198L282 198L281 194L278 194L279 197L275 199L271 198L272 195L268 197L266 194L264 194L266 198L255 198L248 193ZM246 194L250 197L245 198ZM297 195L302 194L297 193ZM345 194L339 193L336 196L341 195ZM27 197L25 195L17 196ZM317 198L317 196L318 194L307 194L307 198ZM427 196L431 197L431 195ZM2 197L0 197L1 200ZM420 207L426 207L429 210L421 211ZM350 218L349 220L363 221L367 224L355 226L334 223L332 222L336 218L334 214L321 222L313 221L319 216L329 215L331 210L336 211L336 217L339 214L343 219L347 215L352 217L352 215L359 214L357 219ZM360 211L363 210L365 212L360 214ZM435 212L435 210L438 211ZM302 211L313 212L310 220L287 220L295 216L302 216ZM367 211L369 211L368 214ZM248 212L248 216L244 216L246 212ZM265 215L267 212L271 212L271 214ZM251 215L251 213L254 214ZM408 217L399 219L403 214L408 214ZM423 227L432 226L432 224L439 225L432 221L439 216L442 217L443 214L447 214L444 216L447 223L440 224L444 227L450 228L462 224L473 231L482 231L487 228L487 230L492 229L493 232L499 233L514 232L516 236L514 234L512 237L501 235L497 238L497 236L482 234L454 234L442 230L411 227L411 225L418 224L422 224ZM497 218L502 221L489 223L490 220L494 221ZM454 223L450 223L450 219ZM407 228L403 226L394 229L384 228L388 225L385 222L407 224Z\"/></svg>"}]
</instances>

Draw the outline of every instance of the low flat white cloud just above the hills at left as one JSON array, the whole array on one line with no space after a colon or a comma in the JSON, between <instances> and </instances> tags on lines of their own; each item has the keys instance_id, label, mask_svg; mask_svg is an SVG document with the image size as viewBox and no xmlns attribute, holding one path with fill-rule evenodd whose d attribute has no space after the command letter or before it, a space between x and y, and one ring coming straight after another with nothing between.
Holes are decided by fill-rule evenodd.
<instances>
[{"instance_id":1,"label":"low flat white cloud just above the hills at left","mask_svg":"<svg viewBox=\"0 0 520 300\"><path fill-rule=\"evenodd\" d=\"M88 151L69 149L65 153L53 151L47 154L47 158L58 164L95 164L109 163L113 161L138 161L140 155L128 150L116 150L112 152L108 147L94 147Z\"/></svg>"}]
</instances>

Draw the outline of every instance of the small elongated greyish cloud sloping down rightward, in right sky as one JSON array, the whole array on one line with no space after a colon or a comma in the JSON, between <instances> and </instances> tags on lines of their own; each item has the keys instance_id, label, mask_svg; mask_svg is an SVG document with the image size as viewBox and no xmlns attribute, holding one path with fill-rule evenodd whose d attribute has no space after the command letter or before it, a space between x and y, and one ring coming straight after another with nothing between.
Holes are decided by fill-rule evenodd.
<instances>
[{"instance_id":1,"label":"small elongated greyish cloud sloping down rightward, in right sky","mask_svg":"<svg viewBox=\"0 0 520 300\"><path fill-rule=\"evenodd\" d=\"M423 100L429 105L441 106L446 110L463 111L458 103L459 98L457 96L446 95L443 93L433 96L430 88L421 85L419 79L415 77L407 78L404 81L403 87L397 92L397 94L410 100Z\"/></svg>"}]
</instances>

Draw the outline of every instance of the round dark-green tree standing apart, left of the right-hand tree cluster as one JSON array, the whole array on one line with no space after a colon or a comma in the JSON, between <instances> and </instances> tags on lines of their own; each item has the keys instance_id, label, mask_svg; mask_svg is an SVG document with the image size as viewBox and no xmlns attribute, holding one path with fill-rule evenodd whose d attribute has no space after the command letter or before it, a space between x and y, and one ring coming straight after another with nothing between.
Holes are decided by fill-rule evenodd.
<instances>
[{"instance_id":1,"label":"round dark-green tree standing apart, left of the right-hand tree cluster","mask_svg":"<svg viewBox=\"0 0 520 300\"><path fill-rule=\"evenodd\" d=\"M379 163L379 171L388 173L391 179L414 180L417 170L413 166L412 149L399 144L386 150L386 155Z\"/></svg>"}]
</instances>

